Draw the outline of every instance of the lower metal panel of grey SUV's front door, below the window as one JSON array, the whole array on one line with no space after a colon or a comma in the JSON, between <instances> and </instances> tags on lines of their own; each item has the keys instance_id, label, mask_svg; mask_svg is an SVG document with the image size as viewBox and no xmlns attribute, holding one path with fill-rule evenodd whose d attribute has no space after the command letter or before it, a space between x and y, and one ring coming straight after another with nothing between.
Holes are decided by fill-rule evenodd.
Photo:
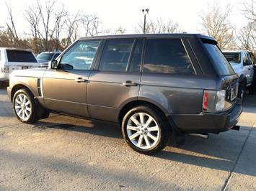
<instances>
[{"instance_id":1,"label":"lower metal panel of grey SUV's front door, below the window","mask_svg":"<svg viewBox=\"0 0 256 191\"><path fill-rule=\"evenodd\" d=\"M77 116L88 117L87 80L90 71L46 70L43 76L45 107ZM84 82L77 82L82 78Z\"/></svg>"}]
</instances>

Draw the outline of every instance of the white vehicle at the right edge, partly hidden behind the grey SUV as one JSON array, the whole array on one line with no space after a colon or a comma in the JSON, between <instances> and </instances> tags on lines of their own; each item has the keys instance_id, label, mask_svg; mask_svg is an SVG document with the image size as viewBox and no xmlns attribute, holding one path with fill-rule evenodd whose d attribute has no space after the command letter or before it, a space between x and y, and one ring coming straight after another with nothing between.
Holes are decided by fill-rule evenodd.
<instances>
[{"instance_id":1,"label":"white vehicle at the right edge, partly hidden behind the grey SUV","mask_svg":"<svg viewBox=\"0 0 256 191\"><path fill-rule=\"evenodd\" d=\"M252 84L254 75L250 53L247 50L224 51L224 56L239 75L239 95L241 94L240 96L243 97L247 87Z\"/></svg>"}]
</instances>

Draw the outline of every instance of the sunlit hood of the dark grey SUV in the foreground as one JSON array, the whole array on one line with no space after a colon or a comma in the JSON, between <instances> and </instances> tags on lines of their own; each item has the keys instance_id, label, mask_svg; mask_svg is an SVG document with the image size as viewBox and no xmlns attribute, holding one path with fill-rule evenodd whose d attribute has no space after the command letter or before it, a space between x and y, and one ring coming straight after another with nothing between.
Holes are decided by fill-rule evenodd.
<instances>
[{"instance_id":1,"label":"sunlit hood of the dark grey SUV in the foreground","mask_svg":"<svg viewBox=\"0 0 256 191\"><path fill-rule=\"evenodd\" d=\"M22 76L22 77L33 77L33 78L43 78L45 73L44 68L26 69L26 70L14 70L11 73L12 76Z\"/></svg>"}]
</instances>

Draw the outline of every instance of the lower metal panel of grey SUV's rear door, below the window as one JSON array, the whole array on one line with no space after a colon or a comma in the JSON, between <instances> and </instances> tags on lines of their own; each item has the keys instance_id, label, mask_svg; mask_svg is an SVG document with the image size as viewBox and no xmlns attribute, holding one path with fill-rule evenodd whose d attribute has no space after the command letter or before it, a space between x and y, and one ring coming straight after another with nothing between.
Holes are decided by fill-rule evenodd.
<instances>
[{"instance_id":1,"label":"lower metal panel of grey SUV's rear door, below the window","mask_svg":"<svg viewBox=\"0 0 256 191\"><path fill-rule=\"evenodd\" d=\"M111 73L93 71L89 77L87 101L90 117L118 121L118 112L125 101L137 100L140 87L140 73ZM136 86L125 86L131 81ZM103 113L108 113L105 116ZM103 115L102 115L103 114Z\"/></svg>"}]
</instances>

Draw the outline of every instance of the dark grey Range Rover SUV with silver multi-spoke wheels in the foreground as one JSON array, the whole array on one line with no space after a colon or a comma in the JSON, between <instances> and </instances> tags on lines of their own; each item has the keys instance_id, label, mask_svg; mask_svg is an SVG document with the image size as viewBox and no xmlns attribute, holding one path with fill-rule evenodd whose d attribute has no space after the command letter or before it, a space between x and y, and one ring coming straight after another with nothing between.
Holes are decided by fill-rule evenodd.
<instances>
[{"instance_id":1,"label":"dark grey Range Rover SUV with silver multi-spoke wheels in the foreground","mask_svg":"<svg viewBox=\"0 0 256 191\"><path fill-rule=\"evenodd\" d=\"M233 129L242 112L238 75L200 34L81 38L48 69L15 70L7 90L24 123L49 112L110 121L144 154L171 137Z\"/></svg>"}]
</instances>

